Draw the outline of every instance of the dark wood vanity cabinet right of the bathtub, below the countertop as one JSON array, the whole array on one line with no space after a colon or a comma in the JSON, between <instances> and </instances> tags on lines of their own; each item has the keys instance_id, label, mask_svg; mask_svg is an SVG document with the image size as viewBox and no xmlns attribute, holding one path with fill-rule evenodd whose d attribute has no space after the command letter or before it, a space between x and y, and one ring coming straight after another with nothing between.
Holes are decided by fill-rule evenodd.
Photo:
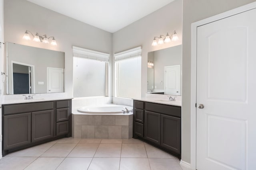
<instances>
[{"instance_id":1,"label":"dark wood vanity cabinet right of the bathtub, below the countertop","mask_svg":"<svg viewBox=\"0 0 256 170\"><path fill-rule=\"evenodd\" d=\"M181 106L134 100L133 138L181 159Z\"/></svg>"}]
</instances>

